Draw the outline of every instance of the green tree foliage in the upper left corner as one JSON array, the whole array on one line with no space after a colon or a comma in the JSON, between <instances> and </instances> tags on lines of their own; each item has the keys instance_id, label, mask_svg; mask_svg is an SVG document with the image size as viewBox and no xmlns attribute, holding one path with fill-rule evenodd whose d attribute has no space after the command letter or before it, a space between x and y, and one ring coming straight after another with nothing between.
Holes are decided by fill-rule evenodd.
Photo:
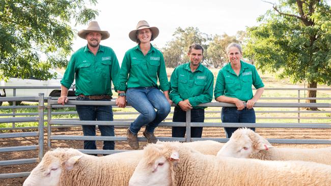
<instances>
[{"instance_id":1,"label":"green tree foliage in the upper left corner","mask_svg":"<svg viewBox=\"0 0 331 186\"><path fill-rule=\"evenodd\" d=\"M48 69L65 67L74 37L70 21L86 24L98 15L87 2L97 3L0 0L0 79L33 75L45 80L53 76Z\"/></svg>"}]
</instances>

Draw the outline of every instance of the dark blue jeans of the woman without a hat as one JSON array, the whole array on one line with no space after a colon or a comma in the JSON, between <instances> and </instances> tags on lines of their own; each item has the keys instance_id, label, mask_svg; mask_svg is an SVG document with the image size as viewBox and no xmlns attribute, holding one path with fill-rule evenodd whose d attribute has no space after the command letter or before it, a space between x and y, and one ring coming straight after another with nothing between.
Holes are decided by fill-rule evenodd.
<instances>
[{"instance_id":1,"label":"dark blue jeans of the woman without a hat","mask_svg":"<svg viewBox=\"0 0 331 186\"><path fill-rule=\"evenodd\" d=\"M247 122L255 123L255 111L254 108L247 109L246 107L242 110L237 110L237 107L223 107L222 113L220 114L220 119L222 122ZM227 138L232 136L237 127L225 127L225 134ZM255 131L255 128L249 128Z\"/></svg>"}]
</instances>

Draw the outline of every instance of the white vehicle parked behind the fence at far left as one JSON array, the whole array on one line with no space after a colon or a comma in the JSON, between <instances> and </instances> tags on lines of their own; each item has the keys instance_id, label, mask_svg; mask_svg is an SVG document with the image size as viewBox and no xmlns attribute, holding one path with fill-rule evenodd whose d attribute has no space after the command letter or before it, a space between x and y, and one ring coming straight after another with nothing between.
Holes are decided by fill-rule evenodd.
<instances>
[{"instance_id":1,"label":"white vehicle parked behind the fence at far left","mask_svg":"<svg viewBox=\"0 0 331 186\"><path fill-rule=\"evenodd\" d=\"M62 74L60 72L57 72L55 70L49 70L50 73L56 74L57 76L55 78L51 78L48 80L40 80L35 77L30 77L27 79L20 79L20 78L9 78L7 82L2 80L0 82L0 86L44 86L43 89L31 89L31 88L19 88L16 89L16 96L17 97L33 97L38 96L39 93L44 93L45 97L60 97L61 96L61 88L56 89L48 89L47 86L61 86L60 81L63 78ZM13 96L13 89L0 89L0 96L1 97L12 97ZM69 90L68 91L69 97L75 96L75 90ZM9 103L10 105L12 103ZM19 105L20 103L16 102L16 105ZM2 102L0 102L0 105L2 105Z\"/></svg>"}]
</instances>

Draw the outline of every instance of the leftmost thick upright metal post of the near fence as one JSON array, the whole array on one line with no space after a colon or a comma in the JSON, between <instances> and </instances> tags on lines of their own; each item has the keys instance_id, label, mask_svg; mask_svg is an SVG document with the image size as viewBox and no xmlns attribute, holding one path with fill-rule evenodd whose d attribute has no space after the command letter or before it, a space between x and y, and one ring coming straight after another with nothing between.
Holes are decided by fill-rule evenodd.
<instances>
[{"instance_id":1,"label":"leftmost thick upright metal post of the near fence","mask_svg":"<svg viewBox=\"0 0 331 186\"><path fill-rule=\"evenodd\" d=\"M44 153L44 94L39 93L39 101L38 101L38 132L39 132L39 139L38 139L38 145L39 145L39 153L38 158L39 162L41 161Z\"/></svg>"}]
</instances>

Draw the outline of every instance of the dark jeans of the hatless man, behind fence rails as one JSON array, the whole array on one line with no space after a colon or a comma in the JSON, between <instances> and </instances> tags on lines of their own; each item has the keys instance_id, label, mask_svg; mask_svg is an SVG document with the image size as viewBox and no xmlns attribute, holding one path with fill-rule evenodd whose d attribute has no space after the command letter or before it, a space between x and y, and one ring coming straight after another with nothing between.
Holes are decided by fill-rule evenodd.
<instances>
[{"instance_id":1,"label":"dark jeans of the hatless man, behind fence rails","mask_svg":"<svg viewBox=\"0 0 331 186\"><path fill-rule=\"evenodd\" d=\"M205 109L191 109L191 122L204 122ZM186 112L180 107L175 107L173 122L186 122ZM186 127L173 127L172 137L185 137ZM191 127L191 137L201 138L202 127Z\"/></svg>"}]
</instances>

